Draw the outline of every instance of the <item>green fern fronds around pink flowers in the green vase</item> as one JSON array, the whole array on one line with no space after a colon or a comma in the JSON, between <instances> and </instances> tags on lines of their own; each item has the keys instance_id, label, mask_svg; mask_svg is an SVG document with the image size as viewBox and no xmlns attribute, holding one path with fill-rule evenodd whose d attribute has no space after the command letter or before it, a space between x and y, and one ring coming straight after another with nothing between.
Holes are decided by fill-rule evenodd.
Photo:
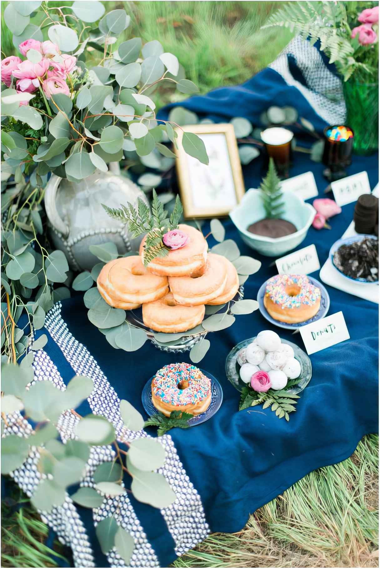
<instances>
[{"instance_id":1,"label":"green fern fronds around pink flowers in the green vase","mask_svg":"<svg viewBox=\"0 0 380 569\"><path fill-rule=\"evenodd\" d=\"M321 42L321 51L327 53L329 63L335 63L338 72L347 81L376 76L378 70L378 44L363 49L357 39L351 39L351 31L360 23L357 18L364 8L376 6L377 2L287 2L271 15L264 26L283 26L314 44ZM368 46L370 47L370 46Z\"/></svg>"}]
</instances>

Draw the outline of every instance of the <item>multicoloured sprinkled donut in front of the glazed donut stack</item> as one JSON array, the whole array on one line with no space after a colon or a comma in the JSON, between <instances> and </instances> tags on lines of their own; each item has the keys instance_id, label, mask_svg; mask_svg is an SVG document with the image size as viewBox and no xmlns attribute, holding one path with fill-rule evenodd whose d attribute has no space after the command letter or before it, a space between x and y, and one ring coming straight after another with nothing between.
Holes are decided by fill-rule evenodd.
<instances>
[{"instance_id":1,"label":"multicoloured sprinkled donut in front of the glazed donut stack","mask_svg":"<svg viewBox=\"0 0 380 569\"><path fill-rule=\"evenodd\" d=\"M170 417L172 411L199 415L211 402L211 381L190 364L170 364L152 379L152 403Z\"/></svg>"}]
</instances>

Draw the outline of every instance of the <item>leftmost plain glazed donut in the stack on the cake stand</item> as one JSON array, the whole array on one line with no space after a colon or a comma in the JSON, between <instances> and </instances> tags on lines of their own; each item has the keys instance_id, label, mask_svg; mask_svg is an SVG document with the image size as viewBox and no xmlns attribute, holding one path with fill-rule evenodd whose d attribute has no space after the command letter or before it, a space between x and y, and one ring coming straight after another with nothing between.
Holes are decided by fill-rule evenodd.
<instances>
[{"instance_id":1,"label":"leftmost plain glazed donut in the stack on the cake stand","mask_svg":"<svg viewBox=\"0 0 380 569\"><path fill-rule=\"evenodd\" d=\"M153 302L169 291L167 277L150 274L138 255L114 259L104 265L97 286L107 304L124 310Z\"/></svg>"}]
</instances>

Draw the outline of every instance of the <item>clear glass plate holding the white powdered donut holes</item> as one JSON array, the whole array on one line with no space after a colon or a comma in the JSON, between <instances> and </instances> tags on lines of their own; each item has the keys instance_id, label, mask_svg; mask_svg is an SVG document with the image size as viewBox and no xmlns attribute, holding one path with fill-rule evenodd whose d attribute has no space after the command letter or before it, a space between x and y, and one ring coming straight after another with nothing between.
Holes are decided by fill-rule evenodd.
<instances>
[{"instance_id":1,"label":"clear glass plate holding the white powdered donut holes","mask_svg":"<svg viewBox=\"0 0 380 569\"><path fill-rule=\"evenodd\" d=\"M249 338L247 340L243 340L242 342L239 342L234 348L232 348L226 359L226 376L238 391L241 391L243 387L245 387L247 384L245 384L240 378L239 375L240 366L237 362L237 356L242 348L246 348L247 345L254 342L255 339L256 336L253 338ZM301 373L298 378L298 384L292 385L291 387L289 387L289 389L287 389L289 394L296 395L297 393L305 389L305 387L308 385L309 381L311 380L311 361L309 356L305 354L305 352L301 350L301 348L299 348L298 345L293 344L288 340L284 340L283 338L281 338L281 343L288 344L293 348L294 357L301 364ZM294 380L291 381L293 382ZM284 389L286 389L286 386L284 387Z\"/></svg>"}]
</instances>

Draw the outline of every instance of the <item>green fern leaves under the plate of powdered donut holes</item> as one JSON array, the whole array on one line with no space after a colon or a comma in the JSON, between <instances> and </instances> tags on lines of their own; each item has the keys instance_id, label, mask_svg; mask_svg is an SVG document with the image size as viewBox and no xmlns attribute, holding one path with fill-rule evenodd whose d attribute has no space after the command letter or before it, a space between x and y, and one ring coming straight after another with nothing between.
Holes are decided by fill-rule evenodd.
<instances>
[{"instance_id":1,"label":"green fern leaves under the plate of powdered donut holes","mask_svg":"<svg viewBox=\"0 0 380 569\"><path fill-rule=\"evenodd\" d=\"M295 405L298 403L297 399L299 399L299 395L289 393L289 389L297 384L297 379L288 380L284 389L269 389L265 392L254 391L250 385L246 385L241 392L239 411L263 404L263 409L270 407L271 411L275 411L276 417L280 419L284 417L288 421L289 413L296 411Z\"/></svg>"}]
</instances>

